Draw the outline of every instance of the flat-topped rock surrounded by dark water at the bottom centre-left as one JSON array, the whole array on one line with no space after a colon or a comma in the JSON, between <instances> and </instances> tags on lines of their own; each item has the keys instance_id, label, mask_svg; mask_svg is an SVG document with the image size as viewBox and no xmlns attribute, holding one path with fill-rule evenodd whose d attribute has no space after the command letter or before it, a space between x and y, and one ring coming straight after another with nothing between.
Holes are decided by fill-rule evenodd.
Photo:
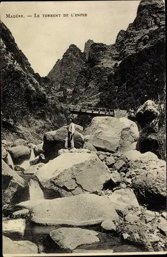
<instances>
[{"instance_id":1,"label":"flat-topped rock surrounded by dark water at the bottom centre-left","mask_svg":"<svg viewBox=\"0 0 167 257\"><path fill-rule=\"evenodd\" d=\"M82 244L99 242L98 233L82 228L59 228L49 233L52 240L62 250L73 250Z\"/></svg>"}]
</instances>

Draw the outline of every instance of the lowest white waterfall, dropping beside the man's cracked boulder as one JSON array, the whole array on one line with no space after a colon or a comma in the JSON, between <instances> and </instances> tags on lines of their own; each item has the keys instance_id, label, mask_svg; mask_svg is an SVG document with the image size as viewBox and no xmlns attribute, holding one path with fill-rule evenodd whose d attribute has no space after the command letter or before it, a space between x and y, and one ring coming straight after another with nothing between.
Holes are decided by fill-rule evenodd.
<instances>
[{"instance_id":1,"label":"lowest white waterfall, dropping beside the man's cracked boulder","mask_svg":"<svg viewBox=\"0 0 167 257\"><path fill-rule=\"evenodd\" d=\"M30 179L29 181L29 194L30 194L30 200L39 200L39 199L45 199L44 193L42 189L40 188L39 182L37 180Z\"/></svg>"}]
</instances>

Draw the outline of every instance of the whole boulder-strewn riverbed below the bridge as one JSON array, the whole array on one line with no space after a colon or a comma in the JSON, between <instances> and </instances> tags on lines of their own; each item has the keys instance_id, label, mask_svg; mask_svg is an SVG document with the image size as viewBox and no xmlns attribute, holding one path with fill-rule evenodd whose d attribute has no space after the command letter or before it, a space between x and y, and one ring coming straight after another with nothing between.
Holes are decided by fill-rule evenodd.
<instances>
[{"instance_id":1,"label":"whole boulder-strewn riverbed below the bridge","mask_svg":"<svg viewBox=\"0 0 167 257\"><path fill-rule=\"evenodd\" d=\"M95 117L71 150L65 130L2 142L4 253L165 251L166 162L136 123Z\"/></svg>"}]
</instances>

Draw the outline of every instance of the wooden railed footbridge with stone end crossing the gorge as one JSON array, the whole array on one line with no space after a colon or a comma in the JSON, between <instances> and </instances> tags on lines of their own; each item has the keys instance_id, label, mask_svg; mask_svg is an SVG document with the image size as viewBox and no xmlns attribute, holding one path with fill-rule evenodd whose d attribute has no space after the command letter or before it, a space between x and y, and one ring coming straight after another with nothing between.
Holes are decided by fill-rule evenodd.
<instances>
[{"instance_id":1,"label":"wooden railed footbridge with stone end crossing the gorge","mask_svg":"<svg viewBox=\"0 0 167 257\"><path fill-rule=\"evenodd\" d=\"M90 106L79 106L79 105L70 105L68 110L71 114L80 114L80 115L90 115L90 116L111 116L117 117L120 114L120 117L127 117L129 119L135 119L136 113L133 109L128 111L119 110L119 109L108 109L108 108L98 108Z\"/></svg>"}]
</instances>

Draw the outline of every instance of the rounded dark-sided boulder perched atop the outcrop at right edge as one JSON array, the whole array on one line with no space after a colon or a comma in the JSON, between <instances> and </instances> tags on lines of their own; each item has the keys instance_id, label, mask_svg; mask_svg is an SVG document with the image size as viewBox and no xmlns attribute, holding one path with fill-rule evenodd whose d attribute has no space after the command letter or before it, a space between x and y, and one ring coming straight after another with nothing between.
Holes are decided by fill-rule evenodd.
<instances>
[{"instance_id":1,"label":"rounded dark-sided boulder perched atop the outcrop at right edge","mask_svg":"<svg viewBox=\"0 0 167 257\"><path fill-rule=\"evenodd\" d=\"M136 121L141 126L152 122L159 115L158 106L152 100L147 100L136 113Z\"/></svg>"}]
</instances>

